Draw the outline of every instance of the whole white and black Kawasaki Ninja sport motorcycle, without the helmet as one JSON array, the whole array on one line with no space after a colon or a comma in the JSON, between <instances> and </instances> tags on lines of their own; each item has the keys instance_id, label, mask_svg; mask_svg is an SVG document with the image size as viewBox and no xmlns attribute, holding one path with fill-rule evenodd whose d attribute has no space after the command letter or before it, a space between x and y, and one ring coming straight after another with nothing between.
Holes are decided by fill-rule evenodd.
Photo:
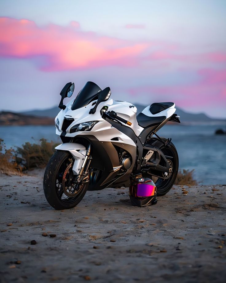
<instances>
[{"instance_id":1,"label":"whole white and black Kawasaki Ninja sport motorcycle, without the helmet","mask_svg":"<svg viewBox=\"0 0 226 283\"><path fill-rule=\"evenodd\" d=\"M113 101L109 87L87 82L66 106L74 83L62 89L56 116L56 147L45 169L44 192L55 209L76 206L87 190L129 187L137 177L150 177L157 195L165 195L178 172L178 154L171 138L156 132L168 121L179 122L173 102L153 103L136 115L128 102Z\"/></svg>"}]
</instances>

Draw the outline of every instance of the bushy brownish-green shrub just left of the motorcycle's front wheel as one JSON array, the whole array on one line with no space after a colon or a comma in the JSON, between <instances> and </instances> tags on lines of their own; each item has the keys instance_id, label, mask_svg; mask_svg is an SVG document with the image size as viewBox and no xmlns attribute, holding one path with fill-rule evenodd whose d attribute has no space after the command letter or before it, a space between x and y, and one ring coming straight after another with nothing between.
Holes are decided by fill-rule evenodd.
<instances>
[{"instance_id":1,"label":"bushy brownish-green shrub just left of the motorcycle's front wheel","mask_svg":"<svg viewBox=\"0 0 226 283\"><path fill-rule=\"evenodd\" d=\"M45 138L42 138L40 144L25 142L22 147L17 148L17 153L26 159L28 170L34 167L44 168L55 152L55 147L56 144L53 141L47 142Z\"/></svg>"}]
</instances>

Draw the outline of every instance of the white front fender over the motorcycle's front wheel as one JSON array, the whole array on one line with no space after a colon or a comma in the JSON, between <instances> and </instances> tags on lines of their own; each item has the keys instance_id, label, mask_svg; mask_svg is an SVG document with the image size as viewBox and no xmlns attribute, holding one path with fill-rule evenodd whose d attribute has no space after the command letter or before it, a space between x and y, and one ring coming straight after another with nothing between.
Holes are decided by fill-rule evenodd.
<instances>
[{"instance_id":1,"label":"white front fender over the motorcycle's front wheel","mask_svg":"<svg viewBox=\"0 0 226 283\"><path fill-rule=\"evenodd\" d=\"M86 148L84 145L75 142L66 142L56 146L55 149L69 151L72 154L75 159L72 171L75 175L78 175L86 155Z\"/></svg>"}]
</instances>

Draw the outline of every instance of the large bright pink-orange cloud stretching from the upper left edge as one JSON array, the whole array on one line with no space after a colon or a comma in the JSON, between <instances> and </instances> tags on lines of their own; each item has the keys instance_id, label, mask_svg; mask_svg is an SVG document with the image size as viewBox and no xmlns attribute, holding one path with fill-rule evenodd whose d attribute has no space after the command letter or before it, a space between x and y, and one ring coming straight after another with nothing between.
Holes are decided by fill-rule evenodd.
<instances>
[{"instance_id":1,"label":"large bright pink-orange cloud stretching from the upper left edge","mask_svg":"<svg viewBox=\"0 0 226 283\"><path fill-rule=\"evenodd\" d=\"M42 70L72 70L101 66L134 66L150 44L84 32L77 22L39 27L26 19L0 18L0 56L45 56Z\"/></svg>"}]
</instances>

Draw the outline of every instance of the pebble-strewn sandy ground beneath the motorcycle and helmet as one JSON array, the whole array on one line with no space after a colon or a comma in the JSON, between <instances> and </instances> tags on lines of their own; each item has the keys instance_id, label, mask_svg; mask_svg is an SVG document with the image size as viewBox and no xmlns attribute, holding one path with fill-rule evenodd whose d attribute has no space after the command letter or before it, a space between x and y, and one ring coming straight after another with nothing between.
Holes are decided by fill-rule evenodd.
<instances>
[{"instance_id":1,"label":"pebble-strewn sandy ground beneath the motorcycle and helmet","mask_svg":"<svg viewBox=\"0 0 226 283\"><path fill-rule=\"evenodd\" d=\"M145 208L109 188L56 211L43 173L0 175L2 282L225 282L226 186L175 186Z\"/></svg>"}]
</instances>

